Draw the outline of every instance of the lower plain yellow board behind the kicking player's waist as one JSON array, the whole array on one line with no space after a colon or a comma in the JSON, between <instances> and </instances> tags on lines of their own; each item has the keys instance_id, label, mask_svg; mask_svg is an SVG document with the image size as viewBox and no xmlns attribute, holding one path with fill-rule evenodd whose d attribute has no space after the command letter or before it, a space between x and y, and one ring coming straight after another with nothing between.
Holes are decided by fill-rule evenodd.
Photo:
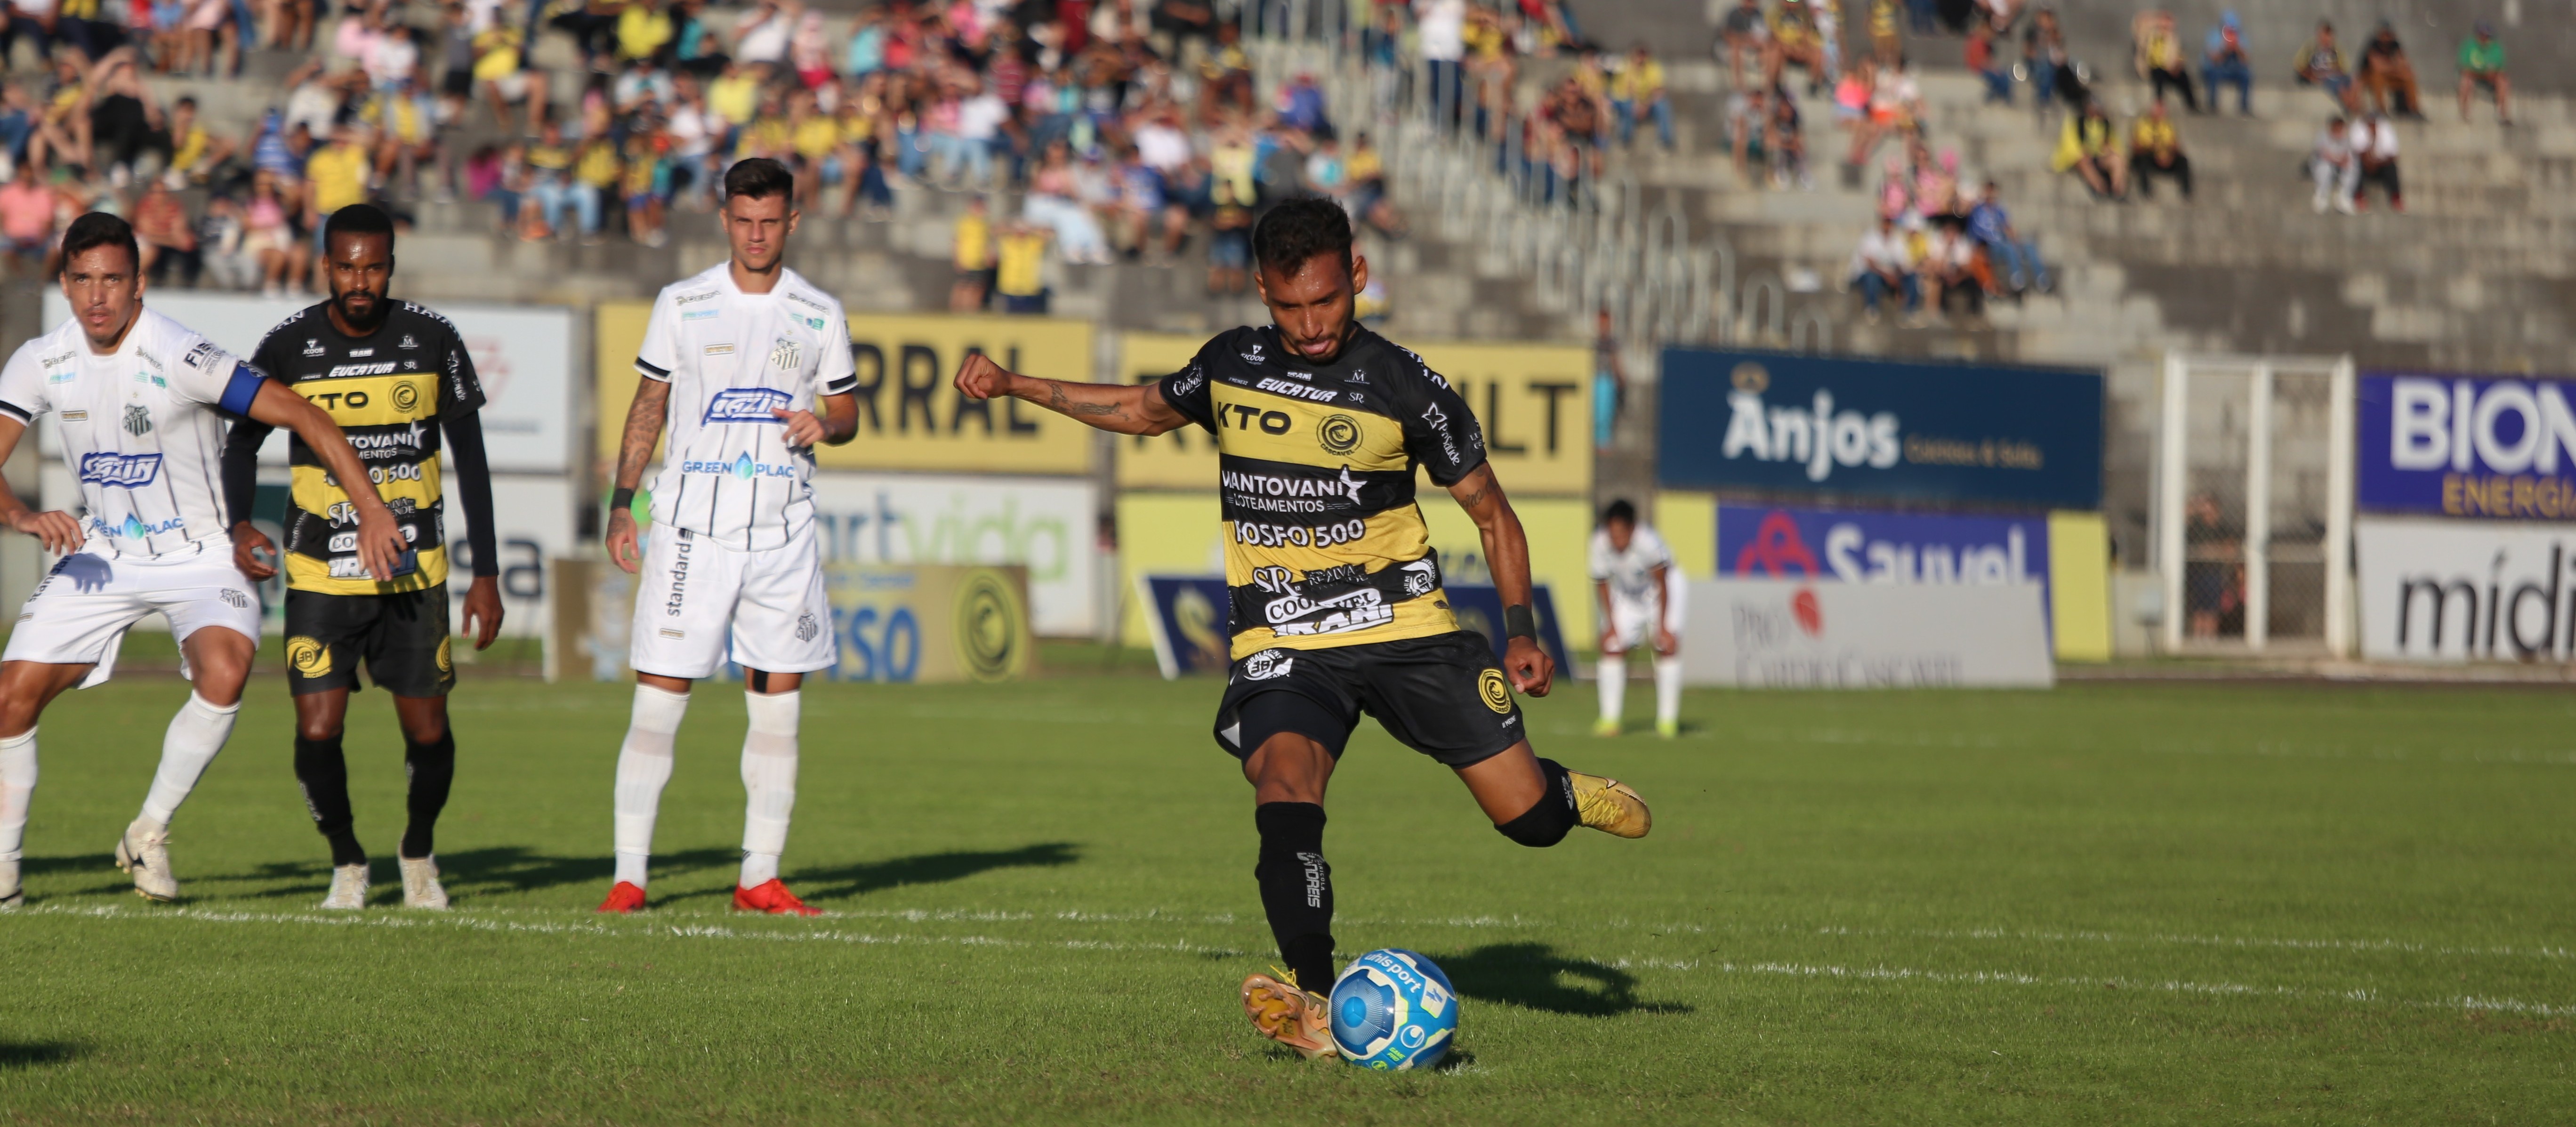
<instances>
[{"instance_id":1,"label":"lower plain yellow board behind the kicking player's waist","mask_svg":"<svg viewBox=\"0 0 2576 1127\"><path fill-rule=\"evenodd\" d=\"M1592 512L1587 502L1566 497L1533 497L1512 502L1520 527L1530 538L1530 579L1546 584L1556 600L1558 630L1569 651L1589 651L1595 638L1592 564ZM1146 607L1136 594L1136 576L1213 576L1226 571L1226 538L1216 507L1216 491L1206 494L1118 494L1118 582L1126 615L1118 638L1126 646L1151 646ZM1484 564L1484 535L1458 502L1430 494L1422 497L1422 522L1430 525L1432 548L1440 551L1440 574L1461 584L1494 582Z\"/></svg>"}]
</instances>

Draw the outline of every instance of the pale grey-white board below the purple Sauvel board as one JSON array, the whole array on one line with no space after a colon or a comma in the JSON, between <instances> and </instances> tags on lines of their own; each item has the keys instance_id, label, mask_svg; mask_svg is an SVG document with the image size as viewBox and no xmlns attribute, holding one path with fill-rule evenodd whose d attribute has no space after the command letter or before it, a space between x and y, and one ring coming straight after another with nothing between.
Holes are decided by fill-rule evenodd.
<instances>
[{"instance_id":1,"label":"pale grey-white board below the purple Sauvel board","mask_svg":"<svg viewBox=\"0 0 2576 1127\"><path fill-rule=\"evenodd\" d=\"M1682 674L1767 690L2050 687L2038 584L1695 579Z\"/></svg>"}]
</instances>

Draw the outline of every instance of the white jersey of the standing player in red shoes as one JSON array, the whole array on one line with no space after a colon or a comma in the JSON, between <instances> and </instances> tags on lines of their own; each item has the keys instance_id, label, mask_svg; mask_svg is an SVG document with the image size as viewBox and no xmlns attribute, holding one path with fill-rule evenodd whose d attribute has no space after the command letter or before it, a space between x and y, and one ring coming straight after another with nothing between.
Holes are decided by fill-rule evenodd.
<instances>
[{"instance_id":1,"label":"white jersey of the standing player in red shoes","mask_svg":"<svg viewBox=\"0 0 2576 1127\"><path fill-rule=\"evenodd\" d=\"M662 288L636 371L670 383L654 525L770 551L814 522L814 450L788 448L770 412L858 389L840 301L796 270L768 293L742 293L716 265Z\"/></svg>"}]
</instances>

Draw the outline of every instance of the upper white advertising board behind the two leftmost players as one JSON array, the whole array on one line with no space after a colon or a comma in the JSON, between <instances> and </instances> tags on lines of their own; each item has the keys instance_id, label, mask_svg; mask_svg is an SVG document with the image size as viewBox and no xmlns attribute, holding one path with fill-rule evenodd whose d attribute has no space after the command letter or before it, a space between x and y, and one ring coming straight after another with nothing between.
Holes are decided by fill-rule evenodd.
<instances>
[{"instance_id":1,"label":"upper white advertising board behind the two leftmost players","mask_svg":"<svg viewBox=\"0 0 2576 1127\"><path fill-rule=\"evenodd\" d=\"M252 293L152 291L144 306L204 332L216 347L247 360L260 337L307 304ZM484 455L492 471L559 473L572 463L572 337L574 311L549 306L482 306L440 301L433 309L456 322L474 376L484 386ZM44 327L54 329L70 314L59 288L44 291ZM634 360L629 355L629 360ZM631 391L629 391L631 396ZM623 407L621 407L623 409ZM62 455L52 425L44 425L44 453ZM260 448L260 463L286 466L286 435L276 432Z\"/></svg>"}]
</instances>

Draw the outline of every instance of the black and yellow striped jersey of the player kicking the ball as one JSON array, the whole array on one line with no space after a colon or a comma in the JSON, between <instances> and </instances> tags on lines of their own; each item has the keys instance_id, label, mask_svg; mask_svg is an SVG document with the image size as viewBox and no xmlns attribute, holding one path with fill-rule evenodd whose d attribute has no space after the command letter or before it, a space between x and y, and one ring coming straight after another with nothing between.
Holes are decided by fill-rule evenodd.
<instances>
[{"instance_id":1,"label":"black and yellow striped jersey of the player kicking the ball","mask_svg":"<svg viewBox=\"0 0 2576 1127\"><path fill-rule=\"evenodd\" d=\"M1450 633L1414 466L1450 486L1484 466L1466 399L1419 355L1352 329L1332 363L1275 327L1231 329L1162 399L1216 435L1234 656Z\"/></svg>"}]
</instances>

